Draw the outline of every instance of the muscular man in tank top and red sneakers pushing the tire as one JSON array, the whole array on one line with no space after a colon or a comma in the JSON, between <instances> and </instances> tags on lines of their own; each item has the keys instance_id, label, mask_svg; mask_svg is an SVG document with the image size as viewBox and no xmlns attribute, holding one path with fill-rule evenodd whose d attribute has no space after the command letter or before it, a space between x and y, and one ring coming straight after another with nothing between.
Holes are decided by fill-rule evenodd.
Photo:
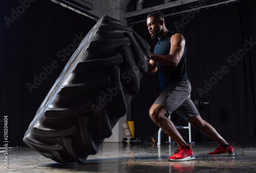
<instances>
[{"instance_id":1,"label":"muscular man in tank top and red sneakers pushing the tire","mask_svg":"<svg viewBox=\"0 0 256 173\"><path fill-rule=\"evenodd\" d=\"M175 111L209 138L220 144L208 156L233 156L233 148L228 144L209 123L199 115L195 104L189 95L191 85L186 74L186 45L185 38L168 31L164 24L164 16L160 11L147 15L147 28L152 38L158 37L151 60L147 62L148 73L158 71L163 92L150 109L151 119L169 135L179 146L169 161L185 161L195 159L190 145L184 141L175 125L165 115Z\"/></svg>"}]
</instances>

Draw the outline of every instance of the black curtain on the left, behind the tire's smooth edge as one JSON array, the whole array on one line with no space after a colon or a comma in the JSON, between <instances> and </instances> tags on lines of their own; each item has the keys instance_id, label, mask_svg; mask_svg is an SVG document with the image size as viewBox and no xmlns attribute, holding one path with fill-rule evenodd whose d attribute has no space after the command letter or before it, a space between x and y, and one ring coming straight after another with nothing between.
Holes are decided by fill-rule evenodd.
<instances>
[{"instance_id":1,"label":"black curtain on the left, behind the tire's smooth edge","mask_svg":"<svg viewBox=\"0 0 256 173\"><path fill-rule=\"evenodd\" d=\"M8 116L9 146L25 145L39 105L96 21L32 0L0 1L0 18L1 142Z\"/></svg>"}]
</instances>

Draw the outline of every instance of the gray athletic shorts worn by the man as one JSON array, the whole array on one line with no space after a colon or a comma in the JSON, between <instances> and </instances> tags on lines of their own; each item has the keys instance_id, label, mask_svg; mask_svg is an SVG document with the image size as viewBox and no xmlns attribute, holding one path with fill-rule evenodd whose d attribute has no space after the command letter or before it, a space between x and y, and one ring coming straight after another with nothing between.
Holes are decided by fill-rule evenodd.
<instances>
[{"instance_id":1,"label":"gray athletic shorts worn by the man","mask_svg":"<svg viewBox=\"0 0 256 173\"><path fill-rule=\"evenodd\" d=\"M191 84L189 80L170 83L166 90L164 90L156 99L154 104L163 105L168 114L175 111L185 120L190 117L199 116L197 107L190 99Z\"/></svg>"}]
</instances>

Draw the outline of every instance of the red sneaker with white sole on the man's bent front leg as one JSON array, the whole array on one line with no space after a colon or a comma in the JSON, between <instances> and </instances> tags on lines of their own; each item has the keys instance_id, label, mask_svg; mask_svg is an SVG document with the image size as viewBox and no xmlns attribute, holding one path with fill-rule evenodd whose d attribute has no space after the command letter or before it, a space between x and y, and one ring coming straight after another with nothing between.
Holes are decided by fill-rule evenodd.
<instances>
[{"instance_id":1,"label":"red sneaker with white sole on the man's bent front leg","mask_svg":"<svg viewBox=\"0 0 256 173\"><path fill-rule=\"evenodd\" d=\"M169 161L186 161L195 159L190 145L188 146L189 149L187 149L184 145L179 146L179 149L174 152L174 155L169 157Z\"/></svg>"}]
</instances>

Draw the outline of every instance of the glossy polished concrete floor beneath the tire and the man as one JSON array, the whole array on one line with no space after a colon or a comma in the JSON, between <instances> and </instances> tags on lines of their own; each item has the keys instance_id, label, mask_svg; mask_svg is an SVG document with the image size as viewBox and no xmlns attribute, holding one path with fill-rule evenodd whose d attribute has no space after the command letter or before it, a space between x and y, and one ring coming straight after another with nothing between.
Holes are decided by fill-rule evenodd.
<instances>
[{"instance_id":1,"label":"glossy polished concrete floor beneath the tire and the man","mask_svg":"<svg viewBox=\"0 0 256 173\"><path fill-rule=\"evenodd\" d=\"M175 144L123 145L102 143L98 153L84 165L65 165L41 156L30 148L8 150L8 169L1 152L0 172L254 172L256 144L233 143L235 156L209 157L216 143L196 143L191 147L196 157L191 161L170 162L167 158L177 149Z\"/></svg>"}]
</instances>

